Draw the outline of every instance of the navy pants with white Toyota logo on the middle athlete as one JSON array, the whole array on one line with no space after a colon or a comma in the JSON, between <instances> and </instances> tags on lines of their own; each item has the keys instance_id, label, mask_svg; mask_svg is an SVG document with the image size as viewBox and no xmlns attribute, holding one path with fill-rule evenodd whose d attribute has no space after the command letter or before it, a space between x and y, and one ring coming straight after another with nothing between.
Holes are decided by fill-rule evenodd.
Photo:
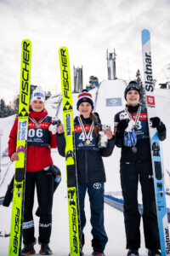
<instances>
[{"instance_id":1,"label":"navy pants with white Toyota logo on the middle athlete","mask_svg":"<svg viewBox=\"0 0 170 256\"><path fill-rule=\"evenodd\" d=\"M84 201L86 191L88 190L88 196L90 201L91 218L92 224L92 246L96 246L99 243L102 249L105 249L105 244L108 241L104 227L104 183L88 183L78 184L79 204L80 204L80 218L81 218L81 230L82 230L82 241L84 241L83 229L86 224L86 216L84 212ZM83 242L82 242L83 243Z\"/></svg>"}]
</instances>

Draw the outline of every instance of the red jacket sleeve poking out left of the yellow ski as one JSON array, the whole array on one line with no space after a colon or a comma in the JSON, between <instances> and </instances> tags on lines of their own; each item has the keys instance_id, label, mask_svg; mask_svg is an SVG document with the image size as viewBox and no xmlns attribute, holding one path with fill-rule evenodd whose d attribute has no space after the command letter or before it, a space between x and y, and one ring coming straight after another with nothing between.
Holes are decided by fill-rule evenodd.
<instances>
[{"instance_id":1,"label":"red jacket sleeve poking out left of the yellow ski","mask_svg":"<svg viewBox=\"0 0 170 256\"><path fill-rule=\"evenodd\" d=\"M16 141L17 141L17 129L18 129L18 119L14 121L14 125L9 134L8 139L8 156L11 158L11 155L16 152Z\"/></svg>"}]
</instances>

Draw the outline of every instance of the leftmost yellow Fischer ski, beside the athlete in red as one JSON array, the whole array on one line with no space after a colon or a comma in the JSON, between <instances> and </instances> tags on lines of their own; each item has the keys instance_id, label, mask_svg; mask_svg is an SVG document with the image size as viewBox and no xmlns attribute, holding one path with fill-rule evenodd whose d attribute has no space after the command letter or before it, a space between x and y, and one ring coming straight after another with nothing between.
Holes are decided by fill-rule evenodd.
<instances>
[{"instance_id":1,"label":"leftmost yellow Fischer ski, beside the athlete in red","mask_svg":"<svg viewBox=\"0 0 170 256\"><path fill-rule=\"evenodd\" d=\"M20 100L16 143L16 153L19 156L19 160L15 162L14 170L13 207L8 256L20 256L26 176L26 146L30 102L30 79L31 41L26 39L21 43Z\"/></svg>"}]
</instances>

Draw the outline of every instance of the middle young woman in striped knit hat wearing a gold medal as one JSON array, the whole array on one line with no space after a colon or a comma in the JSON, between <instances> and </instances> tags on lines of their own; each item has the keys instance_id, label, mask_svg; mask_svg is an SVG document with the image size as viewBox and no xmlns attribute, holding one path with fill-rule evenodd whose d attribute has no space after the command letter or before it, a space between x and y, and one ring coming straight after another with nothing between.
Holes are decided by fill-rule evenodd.
<instances>
[{"instance_id":1,"label":"middle young woman in striped knit hat wearing a gold medal","mask_svg":"<svg viewBox=\"0 0 170 256\"><path fill-rule=\"evenodd\" d=\"M105 167L102 156L110 156L115 146L115 137L111 129L105 131L108 138L107 148L99 148L99 131L101 124L99 116L92 113L94 102L88 91L82 91L78 96L77 109L80 116L74 120L75 148L77 156L78 195L81 216L82 245L84 244L83 228L86 224L84 200L88 190L91 224L93 255L104 255L105 244L108 241L104 227L104 189ZM97 118L98 116L98 118ZM58 128L57 142L59 154L65 156L65 137L63 125Z\"/></svg>"}]
</instances>

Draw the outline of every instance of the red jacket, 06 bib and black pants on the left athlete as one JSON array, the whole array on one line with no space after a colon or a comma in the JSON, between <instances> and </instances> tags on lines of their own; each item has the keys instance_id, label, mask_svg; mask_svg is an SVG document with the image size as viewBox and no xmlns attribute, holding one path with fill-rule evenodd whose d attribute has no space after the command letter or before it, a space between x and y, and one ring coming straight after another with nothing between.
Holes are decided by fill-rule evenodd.
<instances>
[{"instance_id":1,"label":"red jacket, 06 bib and black pants on the left athlete","mask_svg":"<svg viewBox=\"0 0 170 256\"><path fill-rule=\"evenodd\" d=\"M40 121L37 128L32 121ZM34 221L32 209L34 204L35 186L37 186L37 201L40 209L39 243L48 243L52 228L52 206L54 194L54 175L48 175L43 168L53 165L50 148L57 148L56 135L48 131L52 118L45 108L41 113L29 113L28 140L26 154L26 190L24 203L23 239L25 244L36 242L34 237ZM16 152L18 119L10 132L8 140L8 155ZM20 156L19 156L20 157Z\"/></svg>"}]
</instances>

